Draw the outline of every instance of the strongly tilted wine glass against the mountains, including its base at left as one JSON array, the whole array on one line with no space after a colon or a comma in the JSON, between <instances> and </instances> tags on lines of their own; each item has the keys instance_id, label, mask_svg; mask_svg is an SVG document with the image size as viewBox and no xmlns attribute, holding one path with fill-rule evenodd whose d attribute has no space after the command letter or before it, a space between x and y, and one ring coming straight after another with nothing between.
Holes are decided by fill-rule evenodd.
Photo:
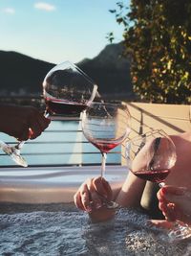
<instances>
[{"instance_id":1,"label":"strongly tilted wine glass against the mountains, including its base at left","mask_svg":"<svg viewBox=\"0 0 191 256\"><path fill-rule=\"evenodd\" d=\"M65 61L51 69L43 81L43 96L46 103L45 116L76 116L92 103L96 97L97 85L74 63ZM16 146L0 142L0 149L11 156L18 165L27 167L28 163L21 155L25 141Z\"/></svg>"}]
</instances>

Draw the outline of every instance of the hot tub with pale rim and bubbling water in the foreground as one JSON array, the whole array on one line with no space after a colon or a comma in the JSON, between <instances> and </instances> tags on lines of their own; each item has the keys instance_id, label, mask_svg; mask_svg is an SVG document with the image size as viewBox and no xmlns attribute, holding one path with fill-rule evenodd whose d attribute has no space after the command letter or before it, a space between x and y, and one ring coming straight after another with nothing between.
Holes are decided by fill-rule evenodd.
<instances>
[{"instance_id":1,"label":"hot tub with pale rim and bubbling water in the foreground","mask_svg":"<svg viewBox=\"0 0 191 256\"><path fill-rule=\"evenodd\" d=\"M98 167L5 168L0 172L0 255L191 255L189 241L170 244L148 217L119 209L112 221L92 223L75 208L74 192ZM107 167L120 186L125 167Z\"/></svg>"}]
</instances>

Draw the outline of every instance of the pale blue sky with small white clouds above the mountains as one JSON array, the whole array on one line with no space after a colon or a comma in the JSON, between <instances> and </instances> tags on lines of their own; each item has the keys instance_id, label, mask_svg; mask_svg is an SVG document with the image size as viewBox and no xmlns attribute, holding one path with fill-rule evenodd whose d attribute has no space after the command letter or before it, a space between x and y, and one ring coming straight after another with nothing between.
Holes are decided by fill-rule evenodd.
<instances>
[{"instance_id":1,"label":"pale blue sky with small white clouds above the mountains","mask_svg":"<svg viewBox=\"0 0 191 256\"><path fill-rule=\"evenodd\" d=\"M128 2L128 1L126 1ZM95 58L110 42L122 40L117 0L0 0L0 50L60 63Z\"/></svg>"}]
</instances>

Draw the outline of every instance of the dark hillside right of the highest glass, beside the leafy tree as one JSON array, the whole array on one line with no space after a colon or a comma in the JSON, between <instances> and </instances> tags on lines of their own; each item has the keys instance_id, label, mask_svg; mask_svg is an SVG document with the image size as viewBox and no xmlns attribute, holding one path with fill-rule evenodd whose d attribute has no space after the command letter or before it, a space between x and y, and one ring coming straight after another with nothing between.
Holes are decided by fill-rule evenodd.
<instances>
[{"instance_id":1,"label":"dark hillside right of the highest glass, beside the leafy tree","mask_svg":"<svg viewBox=\"0 0 191 256\"><path fill-rule=\"evenodd\" d=\"M130 61L121 57L122 47L121 43L107 45L96 58L78 63L96 81L100 93L132 94Z\"/></svg>"}]
</instances>

